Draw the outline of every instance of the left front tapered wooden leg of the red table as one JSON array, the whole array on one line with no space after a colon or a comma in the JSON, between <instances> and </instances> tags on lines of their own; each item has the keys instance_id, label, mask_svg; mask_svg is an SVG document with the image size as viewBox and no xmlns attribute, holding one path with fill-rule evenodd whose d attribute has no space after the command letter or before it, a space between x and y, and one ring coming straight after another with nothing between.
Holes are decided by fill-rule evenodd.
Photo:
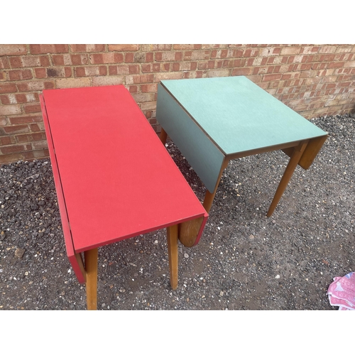
<instances>
[{"instance_id":1,"label":"left front tapered wooden leg of the red table","mask_svg":"<svg viewBox=\"0 0 355 355\"><path fill-rule=\"evenodd\" d=\"M88 310L97 310L97 255L97 248L84 252Z\"/></svg>"}]
</instances>

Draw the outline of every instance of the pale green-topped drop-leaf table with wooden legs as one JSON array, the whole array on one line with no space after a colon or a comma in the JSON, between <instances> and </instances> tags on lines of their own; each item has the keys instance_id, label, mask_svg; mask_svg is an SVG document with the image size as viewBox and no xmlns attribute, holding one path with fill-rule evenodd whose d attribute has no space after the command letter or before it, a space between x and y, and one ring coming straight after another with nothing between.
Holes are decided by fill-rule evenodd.
<instances>
[{"instance_id":1,"label":"pale green-topped drop-leaf table with wooden legs","mask_svg":"<svg viewBox=\"0 0 355 355\"><path fill-rule=\"evenodd\" d=\"M307 169L327 139L322 131L246 77L162 80L156 118L207 187L209 212L229 160L283 150L290 162L268 217L297 164Z\"/></svg>"}]
</instances>

